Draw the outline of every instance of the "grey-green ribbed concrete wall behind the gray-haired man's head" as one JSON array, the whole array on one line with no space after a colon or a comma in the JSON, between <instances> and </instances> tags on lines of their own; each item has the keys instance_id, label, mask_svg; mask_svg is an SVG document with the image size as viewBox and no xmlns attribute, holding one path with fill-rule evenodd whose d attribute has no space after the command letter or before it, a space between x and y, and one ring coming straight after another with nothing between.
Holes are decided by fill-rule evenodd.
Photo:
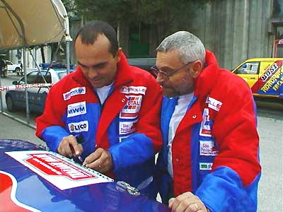
<instances>
[{"instance_id":1,"label":"grey-green ribbed concrete wall behind the gray-haired man's head","mask_svg":"<svg viewBox=\"0 0 283 212\"><path fill-rule=\"evenodd\" d=\"M220 66L233 69L248 58L271 57L272 1L217 0L199 9L188 30L212 50Z\"/></svg>"}]
</instances>

